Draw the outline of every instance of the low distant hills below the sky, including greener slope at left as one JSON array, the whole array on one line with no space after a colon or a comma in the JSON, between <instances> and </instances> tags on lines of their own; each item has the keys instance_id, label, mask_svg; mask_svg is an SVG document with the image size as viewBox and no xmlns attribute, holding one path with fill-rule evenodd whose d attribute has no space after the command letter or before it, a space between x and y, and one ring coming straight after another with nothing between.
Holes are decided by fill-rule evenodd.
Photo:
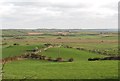
<instances>
[{"instance_id":1,"label":"low distant hills below the sky, including greener slope at left","mask_svg":"<svg viewBox=\"0 0 120 81\"><path fill-rule=\"evenodd\" d=\"M54 32L115 32L117 29L2 29L2 35L27 35L34 33L54 33Z\"/></svg>"}]
</instances>

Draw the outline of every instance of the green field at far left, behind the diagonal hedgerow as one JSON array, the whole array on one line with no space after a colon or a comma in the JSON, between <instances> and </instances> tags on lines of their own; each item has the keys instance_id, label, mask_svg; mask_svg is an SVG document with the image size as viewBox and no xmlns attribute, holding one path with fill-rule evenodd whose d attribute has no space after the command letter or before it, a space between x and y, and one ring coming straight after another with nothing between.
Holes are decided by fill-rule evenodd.
<instances>
[{"instance_id":1,"label":"green field at far left, behind the diagonal hedgerow","mask_svg":"<svg viewBox=\"0 0 120 81\"><path fill-rule=\"evenodd\" d=\"M7 46L2 48L2 58L6 58L6 57L12 57L12 56L18 56L18 55L22 55L26 52L26 50L32 50L35 47L39 47L41 48L43 45L42 44L38 44L38 45L21 45L21 46Z\"/></svg>"}]
</instances>

